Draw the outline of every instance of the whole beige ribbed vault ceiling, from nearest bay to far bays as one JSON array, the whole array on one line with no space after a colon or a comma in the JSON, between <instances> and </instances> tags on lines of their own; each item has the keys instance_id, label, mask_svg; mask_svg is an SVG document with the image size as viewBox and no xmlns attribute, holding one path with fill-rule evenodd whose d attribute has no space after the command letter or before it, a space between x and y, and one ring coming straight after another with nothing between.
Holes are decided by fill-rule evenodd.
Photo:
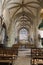
<instances>
[{"instance_id":1,"label":"whole beige ribbed vault ceiling, from nearest bay to far bays","mask_svg":"<svg viewBox=\"0 0 43 65\"><path fill-rule=\"evenodd\" d=\"M43 0L3 0L2 7L3 11L8 9L11 19L18 18L18 21L25 22L24 25L23 23L20 25L26 26L29 25L26 21L33 23L33 19L37 15L37 9L43 7L42 3Z\"/></svg>"}]
</instances>

